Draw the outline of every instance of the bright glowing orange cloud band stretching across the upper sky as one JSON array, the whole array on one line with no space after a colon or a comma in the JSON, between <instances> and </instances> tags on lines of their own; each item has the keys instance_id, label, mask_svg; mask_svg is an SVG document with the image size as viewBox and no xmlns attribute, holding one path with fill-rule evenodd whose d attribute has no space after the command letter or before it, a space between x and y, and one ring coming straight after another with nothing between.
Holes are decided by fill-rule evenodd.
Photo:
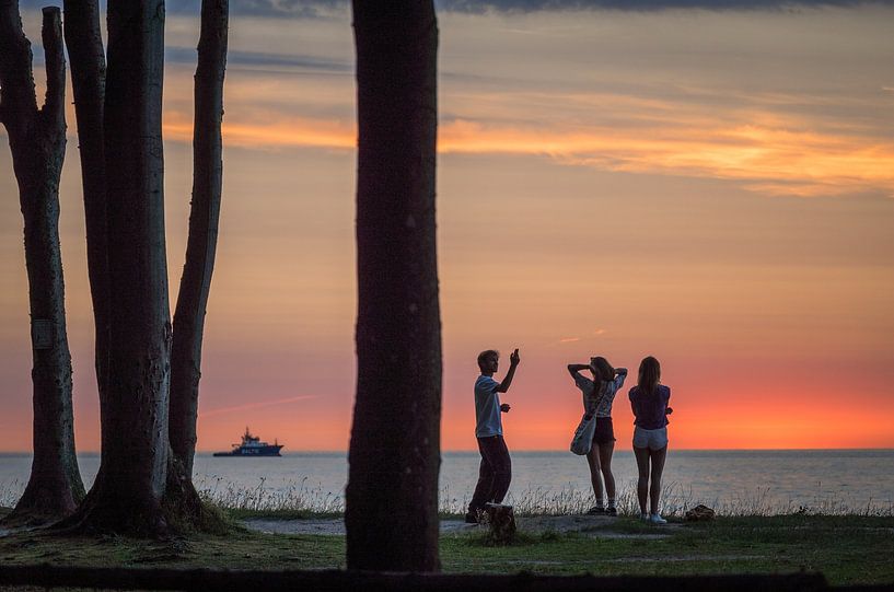
<instances>
[{"instance_id":1,"label":"bright glowing orange cloud band stretching across the upper sky","mask_svg":"<svg viewBox=\"0 0 894 592\"><path fill-rule=\"evenodd\" d=\"M710 177L740 182L762 194L801 197L884 190L894 195L894 143L813 130L777 117L754 123L666 118L653 126L566 127L492 125L455 119L443 123L439 151L457 154L541 155L569 166ZM353 121L283 117L230 118L228 146L251 148L356 147ZM171 114L169 139L190 141L191 120Z\"/></svg>"}]
</instances>

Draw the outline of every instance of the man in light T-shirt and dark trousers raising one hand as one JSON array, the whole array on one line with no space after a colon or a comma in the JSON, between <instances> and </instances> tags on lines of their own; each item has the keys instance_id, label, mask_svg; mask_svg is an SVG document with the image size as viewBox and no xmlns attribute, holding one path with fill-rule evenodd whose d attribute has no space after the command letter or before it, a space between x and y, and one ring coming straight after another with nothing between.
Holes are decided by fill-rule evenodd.
<instances>
[{"instance_id":1,"label":"man in light T-shirt and dark trousers raising one hand","mask_svg":"<svg viewBox=\"0 0 894 592\"><path fill-rule=\"evenodd\" d=\"M487 349L478 353L481 375L475 381L475 438L478 440L481 463L478 468L478 484L475 486L465 519L471 524L479 522L486 503L503 501L512 480L512 461L503 440L500 418L501 413L509 413L510 406L500 403L499 393L509 391L520 360L516 348L509 357L509 371L502 382L497 382L494 374L499 368L500 352Z\"/></svg>"}]
</instances>

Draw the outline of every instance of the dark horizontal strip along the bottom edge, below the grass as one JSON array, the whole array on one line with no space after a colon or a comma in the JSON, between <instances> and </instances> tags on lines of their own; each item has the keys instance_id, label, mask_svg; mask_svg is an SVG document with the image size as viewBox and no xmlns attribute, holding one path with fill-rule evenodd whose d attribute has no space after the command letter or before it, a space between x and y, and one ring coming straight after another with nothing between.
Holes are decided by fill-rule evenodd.
<instances>
[{"instance_id":1,"label":"dark horizontal strip along the bottom edge, below the grass","mask_svg":"<svg viewBox=\"0 0 894 592\"><path fill-rule=\"evenodd\" d=\"M594 576L471 576L360 571L256 571L223 569L84 568L59 566L0 567L0 585L101 588L114 590L403 590L562 592L812 592L833 589L821 573L788 576L687 576L674 578ZM854 588L850 590L858 590ZM859 590L894 590L861 587Z\"/></svg>"}]
</instances>

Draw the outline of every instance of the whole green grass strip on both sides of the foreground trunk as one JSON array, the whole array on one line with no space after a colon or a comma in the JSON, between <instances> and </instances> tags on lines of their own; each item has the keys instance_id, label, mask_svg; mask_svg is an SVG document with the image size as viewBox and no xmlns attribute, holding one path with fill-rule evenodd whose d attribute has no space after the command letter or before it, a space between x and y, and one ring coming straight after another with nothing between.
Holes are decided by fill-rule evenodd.
<instances>
[{"instance_id":1,"label":"whole green grass strip on both sides of the foreground trunk","mask_svg":"<svg viewBox=\"0 0 894 592\"><path fill-rule=\"evenodd\" d=\"M484 532L441 537L446 572L682 576L821 571L829 583L894 583L894 518L785 515L721 518L654 527L624 518L582 533L521 533L494 546ZM345 567L345 538L265 535L232 527L223 535L172 541L0 537L0 565L317 569Z\"/></svg>"}]
</instances>

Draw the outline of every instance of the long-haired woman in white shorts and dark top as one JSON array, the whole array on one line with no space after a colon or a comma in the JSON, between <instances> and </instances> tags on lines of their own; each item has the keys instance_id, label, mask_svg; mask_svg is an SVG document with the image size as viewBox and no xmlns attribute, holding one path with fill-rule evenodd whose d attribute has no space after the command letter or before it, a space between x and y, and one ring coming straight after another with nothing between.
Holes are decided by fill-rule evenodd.
<instances>
[{"instance_id":1,"label":"long-haired woman in white shorts and dark top","mask_svg":"<svg viewBox=\"0 0 894 592\"><path fill-rule=\"evenodd\" d=\"M637 498L642 520L653 524L665 524L658 511L661 497L661 473L667 456L667 415L673 413L667 406L671 390L661 381L661 364L653 357L643 358L639 364L639 380L630 388L630 406L634 409L634 454L637 457L639 479ZM651 486L649 479L651 478ZM649 501L649 511L646 502Z\"/></svg>"}]
</instances>

